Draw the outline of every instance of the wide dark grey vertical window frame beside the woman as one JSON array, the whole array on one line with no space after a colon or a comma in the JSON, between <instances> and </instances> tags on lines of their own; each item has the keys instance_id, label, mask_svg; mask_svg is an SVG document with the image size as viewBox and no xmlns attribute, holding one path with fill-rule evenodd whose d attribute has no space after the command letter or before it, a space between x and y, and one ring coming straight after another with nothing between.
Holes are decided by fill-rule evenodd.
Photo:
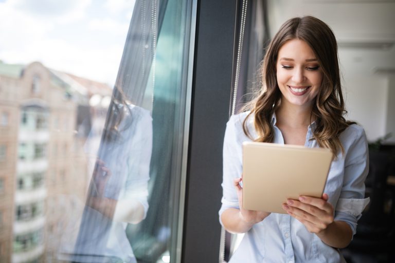
<instances>
[{"instance_id":1,"label":"wide dark grey vertical window frame beside the woman","mask_svg":"<svg viewBox=\"0 0 395 263\"><path fill-rule=\"evenodd\" d=\"M229 118L238 0L197 3L182 262L219 258L222 146Z\"/></svg>"}]
</instances>

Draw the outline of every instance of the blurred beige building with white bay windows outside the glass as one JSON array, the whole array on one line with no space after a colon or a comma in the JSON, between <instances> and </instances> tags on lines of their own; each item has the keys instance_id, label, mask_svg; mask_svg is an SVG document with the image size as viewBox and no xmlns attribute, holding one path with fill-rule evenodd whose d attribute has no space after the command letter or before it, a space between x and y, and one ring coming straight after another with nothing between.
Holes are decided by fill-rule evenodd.
<instances>
[{"instance_id":1,"label":"blurred beige building with white bay windows outside the glass","mask_svg":"<svg viewBox=\"0 0 395 263\"><path fill-rule=\"evenodd\" d=\"M0 261L55 258L62 231L86 199L111 101L110 86L0 61ZM87 137L89 143L87 144Z\"/></svg>"}]
</instances>

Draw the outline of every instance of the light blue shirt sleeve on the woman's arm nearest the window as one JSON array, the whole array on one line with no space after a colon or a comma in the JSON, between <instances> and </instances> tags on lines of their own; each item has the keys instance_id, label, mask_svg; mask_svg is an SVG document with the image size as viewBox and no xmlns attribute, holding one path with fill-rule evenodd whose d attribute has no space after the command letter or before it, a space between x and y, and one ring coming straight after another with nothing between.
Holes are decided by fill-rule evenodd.
<instances>
[{"instance_id":1,"label":"light blue shirt sleeve on the woman's arm nearest the window","mask_svg":"<svg viewBox=\"0 0 395 263\"><path fill-rule=\"evenodd\" d=\"M242 143L238 133L242 129L237 129L236 125L242 125L239 116L232 116L226 124L224 146L223 146L223 181L222 181L222 206L219 211L220 223L221 214L229 208L239 208L239 201L233 180L241 177L242 174Z\"/></svg>"}]
</instances>

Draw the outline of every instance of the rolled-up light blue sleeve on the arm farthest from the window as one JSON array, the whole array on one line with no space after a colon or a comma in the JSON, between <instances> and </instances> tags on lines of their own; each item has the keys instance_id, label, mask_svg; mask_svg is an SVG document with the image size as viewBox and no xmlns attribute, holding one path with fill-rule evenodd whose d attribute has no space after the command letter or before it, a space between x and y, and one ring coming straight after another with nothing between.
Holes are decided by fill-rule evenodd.
<instances>
[{"instance_id":1,"label":"rolled-up light blue sleeve on the arm farthest from the window","mask_svg":"<svg viewBox=\"0 0 395 263\"><path fill-rule=\"evenodd\" d=\"M335 208L335 220L347 222L353 235L357 220L369 203L365 197L365 179L369 171L368 144L364 129L357 125L353 129L352 143L345 152L345 168L342 192Z\"/></svg>"}]
</instances>

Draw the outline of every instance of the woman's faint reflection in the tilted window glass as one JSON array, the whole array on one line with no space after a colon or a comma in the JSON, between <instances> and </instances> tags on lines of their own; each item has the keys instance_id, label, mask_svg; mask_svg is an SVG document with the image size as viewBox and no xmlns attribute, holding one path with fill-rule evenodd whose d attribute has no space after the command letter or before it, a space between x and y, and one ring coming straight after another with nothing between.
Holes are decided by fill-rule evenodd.
<instances>
[{"instance_id":1,"label":"woman's faint reflection in the tilted window glass","mask_svg":"<svg viewBox=\"0 0 395 263\"><path fill-rule=\"evenodd\" d=\"M73 261L104 262L109 257L136 261L125 227L140 222L148 210L152 118L148 110L125 101L115 100L112 106Z\"/></svg>"}]
</instances>

